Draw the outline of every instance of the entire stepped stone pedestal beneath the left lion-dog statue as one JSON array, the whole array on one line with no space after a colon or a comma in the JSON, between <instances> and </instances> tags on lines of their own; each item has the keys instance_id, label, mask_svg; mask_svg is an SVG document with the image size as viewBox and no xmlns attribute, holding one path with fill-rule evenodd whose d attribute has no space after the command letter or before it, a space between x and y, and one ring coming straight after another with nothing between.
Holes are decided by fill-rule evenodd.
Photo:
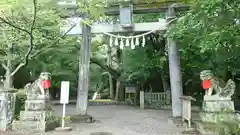
<instances>
[{"instance_id":1,"label":"entire stepped stone pedestal beneath the left lion-dog statue","mask_svg":"<svg viewBox=\"0 0 240 135\"><path fill-rule=\"evenodd\" d=\"M13 124L14 130L45 132L55 129L59 119L54 115L47 100L26 100L25 110L20 112L19 121Z\"/></svg>"}]
</instances>

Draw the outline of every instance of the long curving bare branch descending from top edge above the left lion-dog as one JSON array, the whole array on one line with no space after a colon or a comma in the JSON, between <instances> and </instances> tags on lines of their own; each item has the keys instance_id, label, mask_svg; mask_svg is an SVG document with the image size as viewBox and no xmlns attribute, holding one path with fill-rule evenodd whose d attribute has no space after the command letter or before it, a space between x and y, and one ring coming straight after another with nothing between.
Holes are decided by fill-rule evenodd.
<instances>
[{"instance_id":1,"label":"long curving bare branch descending from top edge above the left lion-dog","mask_svg":"<svg viewBox=\"0 0 240 135\"><path fill-rule=\"evenodd\" d=\"M29 40L30 40L30 43L29 43L29 48L28 48L28 51L24 57L24 62L20 63L16 68L15 70L11 73L11 76L14 76L14 74L17 73L17 71L25 66L27 63L28 63L28 59L29 59L29 55L30 53L32 52L33 50L33 30L34 30L34 26L35 26L35 23L36 23L36 18L37 18L37 3L36 3L36 0L33 0L33 21L32 21L32 25L31 25L31 28L30 28L30 32L28 33L29 34Z\"/></svg>"}]
</instances>

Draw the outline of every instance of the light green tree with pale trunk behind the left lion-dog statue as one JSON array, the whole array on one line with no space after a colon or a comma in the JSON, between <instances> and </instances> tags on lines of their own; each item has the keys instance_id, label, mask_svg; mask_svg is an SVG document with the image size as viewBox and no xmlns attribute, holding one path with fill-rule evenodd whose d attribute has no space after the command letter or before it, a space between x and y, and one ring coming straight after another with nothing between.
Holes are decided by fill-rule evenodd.
<instances>
[{"instance_id":1,"label":"light green tree with pale trunk behind the left lion-dog statue","mask_svg":"<svg viewBox=\"0 0 240 135\"><path fill-rule=\"evenodd\" d=\"M30 59L58 45L66 36L60 33L60 15L51 0L1 1L1 65L4 86L12 88L13 76Z\"/></svg>"}]
</instances>

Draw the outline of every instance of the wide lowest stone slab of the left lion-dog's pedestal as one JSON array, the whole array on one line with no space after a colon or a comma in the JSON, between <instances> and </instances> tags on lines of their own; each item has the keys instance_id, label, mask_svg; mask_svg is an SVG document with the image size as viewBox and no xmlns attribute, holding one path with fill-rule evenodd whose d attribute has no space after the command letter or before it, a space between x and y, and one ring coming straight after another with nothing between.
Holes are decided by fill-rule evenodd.
<instances>
[{"instance_id":1,"label":"wide lowest stone slab of the left lion-dog's pedestal","mask_svg":"<svg viewBox=\"0 0 240 135\"><path fill-rule=\"evenodd\" d=\"M59 120L52 121L14 121L13 130L28 132L46 132L59 126Z\"/></svg>"}]
</instances>

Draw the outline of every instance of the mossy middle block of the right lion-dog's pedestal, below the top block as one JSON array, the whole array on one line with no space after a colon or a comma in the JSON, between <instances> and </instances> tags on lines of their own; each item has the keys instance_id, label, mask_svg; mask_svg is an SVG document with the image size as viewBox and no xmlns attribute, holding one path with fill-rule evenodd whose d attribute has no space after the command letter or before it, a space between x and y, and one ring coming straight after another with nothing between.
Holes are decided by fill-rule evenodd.
<instances>
[{"instance_id":1,"label":"mossy middle block of the right lion-dog's pedestal, below the top block","mask_svg":"<svg viewBox=\"0 0 240 135\"><path fill-rule=\"evenodd\" d=\"M234 122L236 120L234 113L200 112L199 115L201 121L208 123Z\"/></svg>"}]
</instances>

